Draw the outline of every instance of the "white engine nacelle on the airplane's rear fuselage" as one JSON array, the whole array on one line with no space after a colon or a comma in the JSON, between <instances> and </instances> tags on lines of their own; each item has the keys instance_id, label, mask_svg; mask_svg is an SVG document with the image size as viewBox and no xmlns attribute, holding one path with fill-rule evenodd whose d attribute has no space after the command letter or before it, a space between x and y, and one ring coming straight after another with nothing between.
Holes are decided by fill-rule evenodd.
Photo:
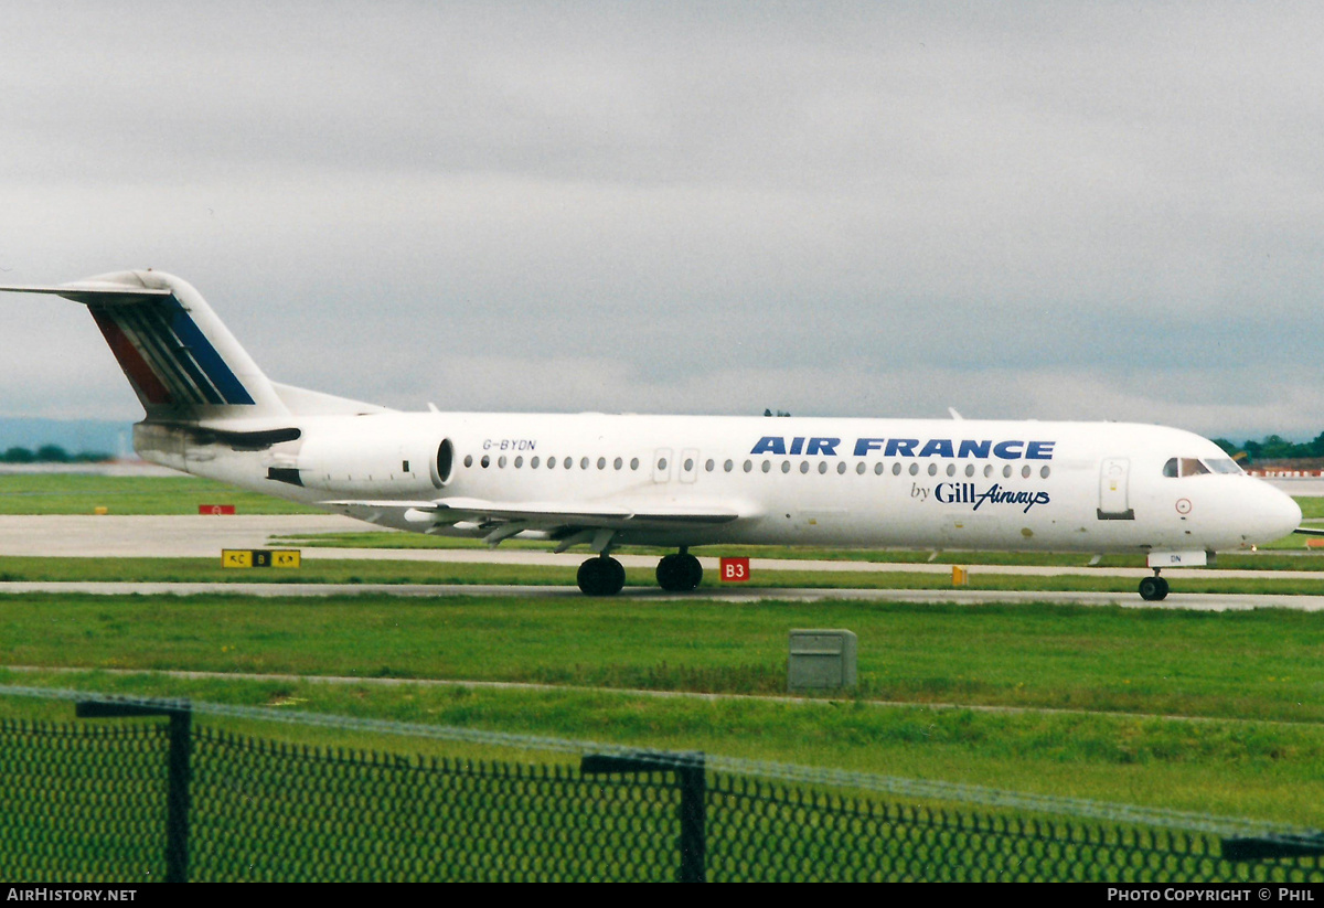
<instances>
[{"instance_id":1,"label":"white engine nacelle on the airplane's rear fuselage","mask_svg":"<svg viewBox=\"0 0 1324 908\"><path fill-rule=\"evenodd\" d=\"M455 447L440 433L308 433L293 469L271 479L339 495L433 498L450 482Z\"/></svg>"}]
</instances>

